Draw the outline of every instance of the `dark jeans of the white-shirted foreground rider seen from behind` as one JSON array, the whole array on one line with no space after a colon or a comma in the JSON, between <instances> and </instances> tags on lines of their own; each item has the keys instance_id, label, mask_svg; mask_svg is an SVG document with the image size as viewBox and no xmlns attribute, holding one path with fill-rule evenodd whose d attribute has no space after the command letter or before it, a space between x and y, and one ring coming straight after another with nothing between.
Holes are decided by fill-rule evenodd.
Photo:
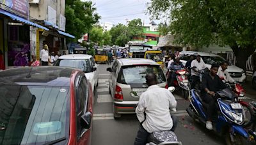
<instances>
[{"instance_id":1,"label":"dark jeans of the white-shirted foreground rider seen from behind","mask_svg":"<svg viewBox=\"0 0 256 145\"><path fill-rule=\"evenodd\" d=\"M178 120L176 116L171 116L172 117L172 122L173 122L173 126L171 131L174 132L175 128L177 127L178 124ZM147 132L147 130L145 130L145 128L143 128L142 123L140 123L139 125L139 130L137 133L137 137L134 141L134 145L145 145L147 144L147 139L148 139L148 135L150 135L150 133Z\"/></svg>"}]
</instances>

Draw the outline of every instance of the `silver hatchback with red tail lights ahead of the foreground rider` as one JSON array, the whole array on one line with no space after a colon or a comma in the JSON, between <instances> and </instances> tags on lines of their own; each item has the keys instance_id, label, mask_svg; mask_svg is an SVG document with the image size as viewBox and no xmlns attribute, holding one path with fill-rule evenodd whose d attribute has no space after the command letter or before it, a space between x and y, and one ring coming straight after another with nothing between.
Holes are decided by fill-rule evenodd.
<instances>
[{"instance_id":1,"label":"silver hatchback with red tail lights ahead of the foreground rider","mask_svg":"<svg viewBox=\"0 0 256 145\"><path fill-rule=\"evenodd\" d=\"M157 75L157 85L167 88L164 72L153 60L150 59L117 59L112 67L108 67L109 93L113 98L114 118L121 114L135 113L141 93L147 90L145 76L149 72Z\"/></svg>"}]
</instances>

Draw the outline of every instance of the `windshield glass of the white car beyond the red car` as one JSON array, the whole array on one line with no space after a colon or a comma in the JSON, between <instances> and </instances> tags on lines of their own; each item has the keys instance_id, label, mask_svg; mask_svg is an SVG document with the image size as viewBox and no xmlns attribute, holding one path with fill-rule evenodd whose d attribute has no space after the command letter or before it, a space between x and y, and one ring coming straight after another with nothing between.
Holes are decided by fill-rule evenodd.
<instances>
[{"instance_id":1,"label":"windshield glass of the white car beyond the red car","mask_svg":"<svg viewBox=\"0 0 256 145\"><path fill-rule=\"evenodd\" d=\"M92 68L90 66L88 59L58 59L54 66L61 67L76 67L84 72L91 72Z\"/></svg>"}]
</instances>

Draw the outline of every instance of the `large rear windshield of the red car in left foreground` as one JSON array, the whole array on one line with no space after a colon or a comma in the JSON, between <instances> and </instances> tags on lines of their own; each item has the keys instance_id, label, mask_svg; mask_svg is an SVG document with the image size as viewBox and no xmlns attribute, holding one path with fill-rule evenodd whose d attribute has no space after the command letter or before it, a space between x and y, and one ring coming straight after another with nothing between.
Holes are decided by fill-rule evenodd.
<instances>
[{"instance_id":1,"label":"large rear windshield of the red car in left foreground","mask_svg":"<svg viewBox=\"0 0 256 145\"><path fill-rule=\"evenodd\" d=\"M0 94L0 144L44 144L68 137L68 87L0 85Z\"/></svg>"}]
</instances>

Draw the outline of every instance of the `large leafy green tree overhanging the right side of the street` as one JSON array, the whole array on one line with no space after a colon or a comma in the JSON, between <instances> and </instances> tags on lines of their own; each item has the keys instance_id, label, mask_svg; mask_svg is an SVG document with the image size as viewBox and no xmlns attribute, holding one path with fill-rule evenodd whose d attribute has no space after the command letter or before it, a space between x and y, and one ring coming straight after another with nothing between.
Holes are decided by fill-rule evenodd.
<instances>
[{"instance_id":1,"label":"large leafy green tree overhanging the right side of the street","mask_svg":"<svg viewBox=\"0 0 256 145\"><path fill-rule=\"evenodd\" d=\"M195 47L228 45L236 55L237 66L245 69L246 59L256 48L255 1L151 1L148 12L152 17L170 13L176 43Z\"/></svg>"}]
</instances>

